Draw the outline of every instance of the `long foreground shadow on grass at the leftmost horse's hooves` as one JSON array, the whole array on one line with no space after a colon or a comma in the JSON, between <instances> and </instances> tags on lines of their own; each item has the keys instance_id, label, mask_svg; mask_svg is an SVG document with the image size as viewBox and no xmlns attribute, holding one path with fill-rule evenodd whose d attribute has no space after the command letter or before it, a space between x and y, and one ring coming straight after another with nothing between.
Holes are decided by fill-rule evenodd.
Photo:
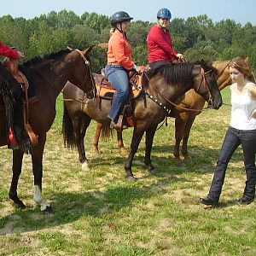
<instances>
[{"instance_id":1,"label":"long foreground shadow on grass at the leftmost horse's hooves","mask_svg":"<svg viewBox=\"0 0 256 256\"><path fill-rule=\"evenodd\" d=\"M136 201L148 199L156 194L166 194L167 186L185 181L187 180L184 178L172 177L148 186L127 183L113 185L105 191L94 190L81 194L53 192L54 200L51 203L55 212L43 213L38 207L15 209L13 214L0 219L3 226L0 235L50 229L61 224L73 223L84 217L109 218L109 221L113 221L114 213L129 212Z\"/></svg>"}]
</instances>

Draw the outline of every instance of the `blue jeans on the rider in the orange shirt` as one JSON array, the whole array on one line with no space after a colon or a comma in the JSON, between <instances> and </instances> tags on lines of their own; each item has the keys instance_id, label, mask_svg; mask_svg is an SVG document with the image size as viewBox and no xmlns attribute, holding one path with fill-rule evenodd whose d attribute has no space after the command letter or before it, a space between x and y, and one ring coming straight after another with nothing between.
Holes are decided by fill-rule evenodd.
<instances>
[{"instance_id":1,"label":"blue jeans on the rider in the orange shirt","mask_svg":"<svg viewBox=\"0 0 256 256\"><path fill-rule=\"evenodd\" d=\"M112 106L108 113L108 118L112 119L114 123L118 122L119 114L122 113L125 102L129 95L129 75L128 70L120 65L107 65L105 72L109 82L113 84L116 94L113 96Z\"/></svg>"}]
</instances>

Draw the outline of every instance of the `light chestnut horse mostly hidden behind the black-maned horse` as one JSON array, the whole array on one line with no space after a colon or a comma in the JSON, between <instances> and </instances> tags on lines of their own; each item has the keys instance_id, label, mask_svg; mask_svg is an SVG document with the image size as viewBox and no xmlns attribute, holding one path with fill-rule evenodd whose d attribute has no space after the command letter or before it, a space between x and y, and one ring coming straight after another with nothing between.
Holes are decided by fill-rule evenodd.
<instances>
[{"instance_id":1,"label":"light chestnut horse mostly hidden behind the black-maned horse","mask_svg":"<svg viewBox=\"0 0 256 256\"><path fill-rule=\"evenodd\" d=\"M248 61L248 59L246 59ZM230 61L213 61L212 67L218 70L218 89L223 90L224 87L231 83L230 73L229 73ZM188 140L191 127L195 121L196 115L201 113L201 109L204 107L205 100L198 94L195 90L189 90L184 96L179 98L175 102L177 106L172 109L172 117L175 118L175 146L174 146L174 156L176 158L177 165L185 165L189 161L188 153ZM190 110L189 110L190 109ZM196 109L196 110L193 110ZM102 131L102 124L97 123L96 134L93 140L93 151L95 154L99 154L99 137ZM125 150L123 143L122 131L117 131L118 147L121 150ZM180 143L182 144L182 154L183 160L180 157Z\"/></svg>"}]
</instances>

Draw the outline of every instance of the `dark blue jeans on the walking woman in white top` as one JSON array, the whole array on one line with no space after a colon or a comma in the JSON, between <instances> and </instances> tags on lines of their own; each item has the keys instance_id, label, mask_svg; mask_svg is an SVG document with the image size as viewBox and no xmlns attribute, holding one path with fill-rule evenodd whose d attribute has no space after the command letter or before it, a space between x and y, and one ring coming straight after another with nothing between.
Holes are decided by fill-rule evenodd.
<instances>
[{"instance_id":1,"label":"dark blue jeans on the walking woman in white top","mask_svg":"<svg viewBox=\"0 0 256 256\"><path fill-rule=\"evenodd\" d=\"M253 199L255 196L256 130L242 131L229 127L224 137L224 143L220 150L214 177L212 179L212 185L209 194L207 195L207 197L213 201L218 201L219 199L228 163L240 144L243 151L244 166L247 173L246 187L243 195L249 199Z\"/></svg>"}]
</instances>

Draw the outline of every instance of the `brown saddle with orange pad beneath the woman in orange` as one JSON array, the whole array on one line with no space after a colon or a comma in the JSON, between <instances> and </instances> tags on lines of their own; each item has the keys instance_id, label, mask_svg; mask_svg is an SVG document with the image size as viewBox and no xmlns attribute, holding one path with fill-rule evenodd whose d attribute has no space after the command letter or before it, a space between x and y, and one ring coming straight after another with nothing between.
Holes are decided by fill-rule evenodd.
<instances>
[{"instance_id":1,"label":"brown saddle with orange pad beneath the woman in orange","mask_svg":"<svg viewBox=\"0 0 256 256\"><path fill-rule=\"evenodd\" d=\"M108 81L108 78L105 73L105 68L102 68L101 73L93 73L93 77L96 82L96 90L97 96L102 99L112 101L113 96L116 92L113 84ZM128 99L125 103L125 108L123 112L119 115L118 124L116 125L119 130L122 129L123 126L123 118L125 117L125 125L129 127L134 126L134 121L132 117L132 109L131 109L131 99L136 98L141 93L142 88L142 74L138 74L136 71L131 71L129 73L131 90L129 92Z\"/></svg>"}]
</instances>

